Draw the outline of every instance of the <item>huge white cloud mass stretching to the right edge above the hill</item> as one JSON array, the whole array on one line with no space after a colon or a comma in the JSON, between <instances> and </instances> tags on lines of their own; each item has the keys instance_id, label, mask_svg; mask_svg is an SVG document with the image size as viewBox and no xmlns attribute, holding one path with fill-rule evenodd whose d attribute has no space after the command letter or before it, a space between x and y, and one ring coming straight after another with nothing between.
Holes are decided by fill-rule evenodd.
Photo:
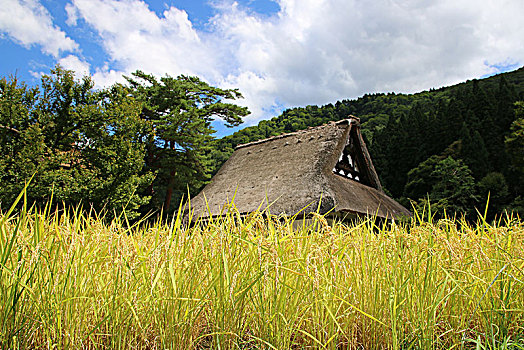
<instances>
[{"instance_id":1,"label":"huge white cloud mass stretching to the right edge above the hill","mask_svg":"<svg viewBox=\"0 0 524 350\"><path fill-rule=\"evenodd\" d=\"M524 63L522 0L278 0L260 16L215 1L209 31L175 7L141 0L73 0L68 23L85 20L109 60L95 80L142 69L199 75L238 87L251 123L275 108L324 104L366 92L415 92ZM97 81L97 83L100 83Z\"/></svg>"}]
</instances>

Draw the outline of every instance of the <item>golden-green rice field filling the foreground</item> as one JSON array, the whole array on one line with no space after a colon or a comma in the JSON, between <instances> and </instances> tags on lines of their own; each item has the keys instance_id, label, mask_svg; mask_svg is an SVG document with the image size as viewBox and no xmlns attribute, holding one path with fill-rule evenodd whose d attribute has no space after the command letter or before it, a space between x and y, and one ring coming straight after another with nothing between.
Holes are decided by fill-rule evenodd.
<instances>
[{"instance_id":1,"label":"golden-green rice field filling the foreground","mask_svg":"<svg viewBox=\"0 0 524 350\"><path fill-rule=\"evenodd\" d=\"M520 219L298 226L2 213L2 348L524 349Z\"/></svg>"}]
</instances>

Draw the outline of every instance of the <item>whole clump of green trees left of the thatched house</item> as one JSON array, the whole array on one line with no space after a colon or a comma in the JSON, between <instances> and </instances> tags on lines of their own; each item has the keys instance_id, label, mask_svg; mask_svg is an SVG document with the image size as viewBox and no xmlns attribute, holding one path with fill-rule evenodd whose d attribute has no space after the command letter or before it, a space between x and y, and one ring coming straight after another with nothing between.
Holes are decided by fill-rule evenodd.
<instances>
[{"instance_id":1,"label":"whole clump of green trees left of the thatched house","mask_svg":"<svg viewBox=\"0 0 524 350\"><path fill-rule=\"evenodd\" d=\"M95 90L57 66L30 87L0 79L0 209L30 180L29 203L105 210L133 218L170 212L209 179L211 121L238 125L242 97L196 77L137 71Z\"/></svg>"}]
</instances>

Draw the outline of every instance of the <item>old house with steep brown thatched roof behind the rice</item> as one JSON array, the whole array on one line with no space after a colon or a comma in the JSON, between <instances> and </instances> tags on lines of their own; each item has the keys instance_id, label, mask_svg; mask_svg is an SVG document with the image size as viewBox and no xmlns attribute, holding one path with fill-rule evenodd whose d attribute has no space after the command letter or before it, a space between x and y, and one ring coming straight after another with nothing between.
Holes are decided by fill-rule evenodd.
<instances>
[{"instance_id":1,"label":"old house with steep brown thatched roof behind the rice","mask_svg":"<svg viewBox=\"0 0 524 350\"><path fill-rule=\"evenodd\" d=\"M410 216L382 191L358 118L331 122L237 146L191 200L193 220L222 215L234 201L243 213ZM320 203L319 203L320 202ZM319 205L320 204L320 205Z\"/></svg>"}]
</instances>

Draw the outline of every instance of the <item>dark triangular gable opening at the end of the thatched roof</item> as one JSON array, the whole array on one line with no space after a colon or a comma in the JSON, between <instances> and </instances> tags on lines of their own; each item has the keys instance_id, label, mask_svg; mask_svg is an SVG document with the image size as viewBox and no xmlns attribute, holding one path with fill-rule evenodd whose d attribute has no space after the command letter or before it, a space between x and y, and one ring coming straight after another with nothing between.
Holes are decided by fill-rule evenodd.
<instances>
[{"instance_id":1,"label":"dark triangular gable opening at the end of the thatched roof","mask_svg":"<svg viewBox=\"0 0 524 350\"><path fill-rule=\"evenodd\" d=\"M360 132L360 120L350 116L346 144L333 173L382 191L375 167Z\"/></svg>"}]
</instances>

